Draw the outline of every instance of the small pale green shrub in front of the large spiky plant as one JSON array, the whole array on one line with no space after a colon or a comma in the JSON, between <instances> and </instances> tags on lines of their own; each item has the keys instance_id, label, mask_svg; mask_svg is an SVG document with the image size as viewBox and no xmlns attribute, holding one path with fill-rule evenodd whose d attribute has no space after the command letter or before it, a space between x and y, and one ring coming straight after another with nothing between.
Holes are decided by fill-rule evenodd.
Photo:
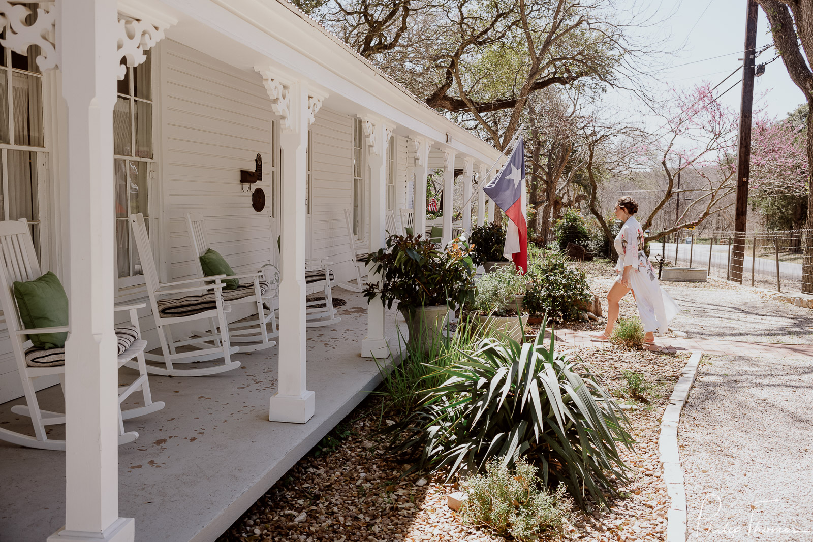
<instances>
[{"instance_id":1,"label":"small pale green shrub in front of the large spiky plant","mask_svg":"<svg viewBox=\"0 0 813 542\"><path fill-rule=\"evenodd\" d=\"M466 522L520 542L536 542L543 533L561 534L572 507L564 484L551 493L537 477L536 467L521 457L515 470L500 463L500 459L489 462L485 475L463 483L468 492L461 510Z\"/></svg>"}]
</instances>

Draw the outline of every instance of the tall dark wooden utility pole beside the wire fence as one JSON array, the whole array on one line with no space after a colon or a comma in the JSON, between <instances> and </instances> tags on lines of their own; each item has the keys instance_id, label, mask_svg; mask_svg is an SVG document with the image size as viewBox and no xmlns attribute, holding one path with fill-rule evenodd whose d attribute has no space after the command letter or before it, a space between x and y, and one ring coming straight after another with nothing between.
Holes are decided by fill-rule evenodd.
<instances>
[{"instance_id":1,"label":"tall dark wooden utility pole beside the wire fence","mask_svg":"<svg viewBox=\"0 0 813 542\"><path fill-rule=\"evenodd\" d=\"M734 207L734 245L731 280L742 284L742 268L746 252L748 221L748 176L751 162L751 111L754 106L754 57L757 48L756 0L747 0L746 46L742 59L742 97L740 102L740 137L737 145L737 203Z\"/></svg>"}]
</instances>

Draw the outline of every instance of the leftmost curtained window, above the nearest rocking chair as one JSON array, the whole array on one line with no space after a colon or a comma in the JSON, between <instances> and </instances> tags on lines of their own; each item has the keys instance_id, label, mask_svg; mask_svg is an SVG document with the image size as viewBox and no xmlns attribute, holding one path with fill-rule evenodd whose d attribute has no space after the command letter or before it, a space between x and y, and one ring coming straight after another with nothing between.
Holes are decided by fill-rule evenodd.
<instances>
[{"instance_id":1,"label":"leftmost curtained window, above the nearest rocking chair","mask_svg":"<svg viewBox=\"0 0 813 542\"><path fill-rule=\"evenodd\" d=\"M26 23L33 24L36 17L36 13L28 15ZM45 230L40 227L39 202L46 175L46 141L39 54L39 46L28 47L27 55L0 46L0 206L2 219L28 221L34 249L42 260Z\"/></svg>"}]
</instances>

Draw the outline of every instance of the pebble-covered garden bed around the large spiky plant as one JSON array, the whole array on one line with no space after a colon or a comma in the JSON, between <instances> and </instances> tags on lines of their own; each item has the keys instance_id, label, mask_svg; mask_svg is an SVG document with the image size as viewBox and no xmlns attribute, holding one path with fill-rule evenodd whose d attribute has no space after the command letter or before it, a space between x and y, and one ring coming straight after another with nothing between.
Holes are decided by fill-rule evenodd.
<instances>
[{"instance_id":1,"label":"pebble-covered garden bed around the large spiky plant","mask_svg":"<svg viewBox=\"0 0 813 542\"><path fill-rule=\"evenodd\" d=\"M660 479L658 427L663 409L686 355L649 351L569 349L589 362L602 384L624 399L624 371L645 375L652 386L649 403L628 410L637 440L623 450L631 467L630 481L611 512L584 516L575 511L569 540L610 542L663 540L668 497ZM479 527L465 525L446 506L446 495L457 489L441 476L411 475L408 468L386 457L376 438L381 420L380 399L370 397L340 423L315 449L252 506L218 542L237 540L504 540Z\"/></svg>"}]
</instances>

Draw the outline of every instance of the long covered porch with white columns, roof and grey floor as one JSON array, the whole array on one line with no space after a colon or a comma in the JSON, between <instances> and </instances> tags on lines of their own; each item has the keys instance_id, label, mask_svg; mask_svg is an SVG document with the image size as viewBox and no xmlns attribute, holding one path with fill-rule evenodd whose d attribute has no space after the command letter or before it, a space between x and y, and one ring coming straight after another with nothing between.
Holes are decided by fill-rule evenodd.
<instances>
[{"instance_id":1,"label":"long covered porch with white columns, roof and grey floor","mask_svg":"<svg viewBox=\"0 0 813 542\"><path fill-rule=\"evenodd\" d=\"M447 194L463 171L470 231L485 219L485 198L470 204L474 176L485 184L500 154L284 0L57 0L5 10L0 41L36 55L28 70L43 89L41 111L32 99L28 113L41 113L44 126L38 180L27 185L40 199L21 218L42 271L65 286L70 332L64 398L55 378L37 386L41 406L65 414L48 438L67 451L0 442L0 539L215 540L376 386L372 358L387 360L398 337L395 314L339 288L341 322L307 327L307 258L330 261L338 284L353 271L354 241L359 252L384 246L389 216L402 230L399 211L413 209L424 231L433 164ZM256 156L265 207L253 207L240 184ZM453 205L446 197L443 241ZM166 406L125 421L139 437L119 446L116 388L134 373L111 363L113 306L152 293L128 215L144 216L155 272L172 283L197 272L191 213L207 220L212 246L238 274L279 268L277 345L235 353L242 365L219 375L151 375L152 396ZM159 324L149 307L139 316L157 349ZM176 336L193 329L179 326ZM30 420L11 413L24 398L7 342L0 336L0 427L25 433Z\"/></svg>"}]
</instances>

